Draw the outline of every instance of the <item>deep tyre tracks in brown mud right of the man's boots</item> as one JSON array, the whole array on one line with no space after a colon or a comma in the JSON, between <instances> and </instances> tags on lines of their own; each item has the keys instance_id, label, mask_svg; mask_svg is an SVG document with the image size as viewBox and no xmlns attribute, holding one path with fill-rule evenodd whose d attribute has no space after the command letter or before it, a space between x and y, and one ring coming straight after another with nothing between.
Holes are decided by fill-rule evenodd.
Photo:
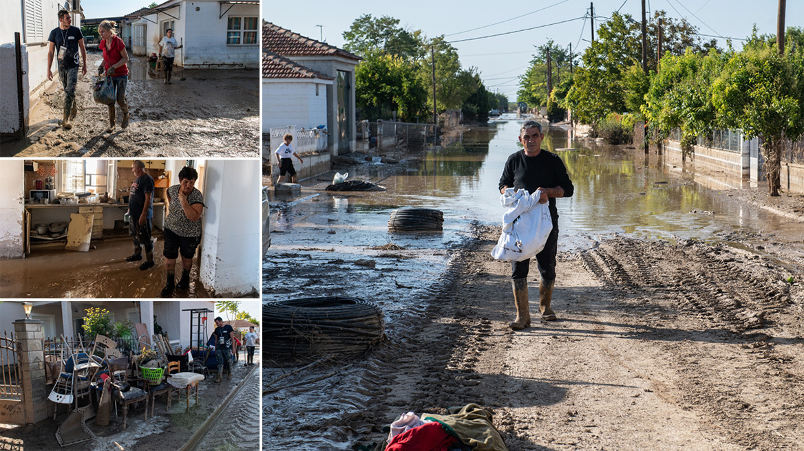
<instances>
[{"instance_id":1,"label":"deep tyre tracks in brown mud right of the man's boots","mask_svg":"<svg viewBox=\"0 0 804 451\"><path fill-rule=\"evenodd\" d=\"M713 258L712 253L726 256ZM709 327L736 332L762 327L765 311L787 301L785 293L771 287L769 274L757 278L734 266L742 260L728 250L704 243L645 245L617 237L583 251L580 259L619 298L668 303L665 307L678 308Z\"/></svg>"}]
</instances>

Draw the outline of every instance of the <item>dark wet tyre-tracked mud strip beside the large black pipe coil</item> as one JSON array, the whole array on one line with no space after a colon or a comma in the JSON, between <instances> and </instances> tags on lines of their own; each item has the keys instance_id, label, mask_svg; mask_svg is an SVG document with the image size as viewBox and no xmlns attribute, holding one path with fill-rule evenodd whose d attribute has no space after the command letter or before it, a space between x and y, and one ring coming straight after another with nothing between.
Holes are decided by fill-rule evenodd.
<instances>
[{"instance_id":1,"label":"dark wet tyre-tracked mud strip beside the large black pipe coil","mask_svg":"<svg viewBox=\"0 0 804 451\"><path fill-rule=\"evenodd\" d=\"M448 383L453 370L445 368L453 368L449 358L466 325L451 319L453 306L445 301L457 278L466 272L463 257L478 246L482 230L472 225L470 236L448 251L449 266L441 277L420 286L405 311L396 314L387 329L389 343L362 358L335 361L297 377L313 379L338 372L320 383L263 396L263 449L351 449L355 442L379 432L377 425L390 423L389 418L408 411L432 412L450 405L443 404L445 400L459 399L459 389ZM485 327L490 327L488 320ZM263 371L266 381L281 374L277 368ZM466 379L463 384L473 382Z\"/></svg>"}]
</instances>

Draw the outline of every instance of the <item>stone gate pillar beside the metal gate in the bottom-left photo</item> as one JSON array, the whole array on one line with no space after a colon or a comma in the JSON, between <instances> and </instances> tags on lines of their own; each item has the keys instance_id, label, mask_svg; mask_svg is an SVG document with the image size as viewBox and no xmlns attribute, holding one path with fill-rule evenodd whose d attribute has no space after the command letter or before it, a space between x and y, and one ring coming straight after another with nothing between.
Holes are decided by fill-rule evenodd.
<instances>
[{"instance_id":1,"label":"stone gate pillar beside the metal gate in the bottom-left photo","mask_svg":"<svg viewBox=\"0 0 804 451\"><path fill-rule=\"evenodd\" d=\"M47 418L45 355L42 322L35 319L14 321L14 338L19 349L19 376L23 388L25 422L33 424Z\"/></svg>"}]
</instances>

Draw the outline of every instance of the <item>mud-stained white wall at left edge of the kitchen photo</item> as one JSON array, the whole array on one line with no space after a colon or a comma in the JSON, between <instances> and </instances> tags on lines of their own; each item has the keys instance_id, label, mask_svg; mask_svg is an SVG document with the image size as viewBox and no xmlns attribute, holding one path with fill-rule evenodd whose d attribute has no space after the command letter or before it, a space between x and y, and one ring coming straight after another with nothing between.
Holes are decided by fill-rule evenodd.
<instances>
[{"instance_id":1,"label":"mud-stained white wall at left edge of the kitchen photo","mask_svg":"<svg viewBox=\"0 0 804 451\"><path fill-rule=\"evenodd\" d=\"M0 258L23 258L25 161L0 161Z\"/></svg>"}]
</instances>

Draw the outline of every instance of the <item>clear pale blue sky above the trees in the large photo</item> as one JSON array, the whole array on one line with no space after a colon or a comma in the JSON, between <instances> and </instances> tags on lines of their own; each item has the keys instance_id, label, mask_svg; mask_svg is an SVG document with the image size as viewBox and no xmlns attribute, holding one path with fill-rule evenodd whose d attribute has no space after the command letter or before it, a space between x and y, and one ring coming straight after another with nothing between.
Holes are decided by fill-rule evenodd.
<instances>
[{"instance_id":1,"label":"clear pale blue sky above the trees in the large photo","mask_svg":"<svg viewBox=\"0 0 804 451\"><path fill-rule=\"evenodd\" d=\"M556 3L560 5L555 5ZM632 14L635 19L642 17L640 0L597 0L594 2L596 16L610 16L615 10L621 14ZM552 7L549 7L552 6ZM687 11L687 9L689 11ZM760 33L776 33L778 3L774 0L749 2L746 0L646 0L650 10L666 10L672 18L687 18L706 35L745 38L751 34L754 23ZM86 6L84 6L86 7ZM546 10L535 12L548 7ZM451 35L464 30L490 25L509 18L527 14L522 18L487 26L480 30L468 31L447 36L448 40L467 39L494 35L512 30L546 25L572 18L582 17L589 10L588 0L545 0L531 2L500 1L433 1L406 0L405 2L376 2L347 0L344 2L289 2L270 0L262 3L263 18L296 33L313 39L323 38L327 43L343 46L342 33L349 29L351 22L361 14L374 17L390 15L400 19L400 25L412 30L423 30L429 36ZM690 14L691 13L693 14ZM696 17L695 17L696 16ZM604 19L596 19L597 24ZM317 25L322 25L319 29ZM496 38L479 39L466 43L453 43L457 48L464 67L478 67L490 90L499 90L515 100L516 77L525 70L531 60L534 46L540 46L553 39L556 44L567 46L572 43L573 53L580 47L582 51L589 46L589 20L576 20L560 25L547 26ZM804 2L788 0L786 26L804 26ZM596 31L597 37L597 31ZM580 41L579 41L580 39ZM724 39L719 40L724 47ZM737 49L740 41L734 41ZM507 79L508 78L508 79Z\"/></svg>"}]
</instances>

